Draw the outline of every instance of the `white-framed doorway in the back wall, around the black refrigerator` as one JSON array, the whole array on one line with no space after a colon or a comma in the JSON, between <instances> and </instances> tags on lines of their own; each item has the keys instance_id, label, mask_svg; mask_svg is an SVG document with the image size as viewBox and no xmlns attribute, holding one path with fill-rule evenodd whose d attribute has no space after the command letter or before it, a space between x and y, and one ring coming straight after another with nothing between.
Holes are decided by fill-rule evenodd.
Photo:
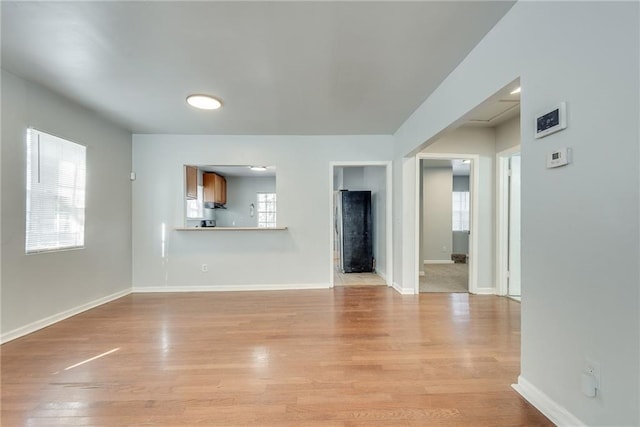
<instances>
[{"instance_id":1,"label":"white-framed doorway in the back wall, around the black refrigerator","mask_svg":"<svg viewBox=\"0 0 640 427\"><path fill-rule=\"evenodd\" d=\"M331 239L330 239L330 281L333 286L386 285L391 286L393 277L392 240L392 188L391 162L332 162L331 168ZM343 271L341 261L344 247L340 226L343 213L340 212L343 191L354 195L370 192L370 219L372 233L371 272ZM340 197L341 199L341 197Z\"/></svg>"}]
</instances>

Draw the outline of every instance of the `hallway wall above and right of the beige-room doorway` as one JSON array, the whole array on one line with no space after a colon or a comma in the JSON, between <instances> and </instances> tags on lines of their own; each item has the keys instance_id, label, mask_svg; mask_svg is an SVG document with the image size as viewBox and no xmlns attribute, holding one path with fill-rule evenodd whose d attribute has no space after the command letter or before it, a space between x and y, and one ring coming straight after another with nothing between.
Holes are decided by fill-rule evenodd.
<instances>
[{"instance_id":1,"label":"hallway wall above and right of the beige-room doorway","mask_svg":"<svg viewBox=\"0 0 640 427\"><path fill-rule=\"evenodd\" d=\"M449 131L422 150L422 153L477 154L478 224L472 233L478 239L478 292L491 293L495 279L495 131L492 128L462 127Z\"/></svg>"}]
</instances>

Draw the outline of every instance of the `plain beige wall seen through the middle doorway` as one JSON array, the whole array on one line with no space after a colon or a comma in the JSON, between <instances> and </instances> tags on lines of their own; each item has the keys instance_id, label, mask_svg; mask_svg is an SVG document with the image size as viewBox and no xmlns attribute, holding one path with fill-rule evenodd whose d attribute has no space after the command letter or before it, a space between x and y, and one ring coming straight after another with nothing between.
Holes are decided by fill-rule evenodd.
<instances>
[{"instance_id":1,"label":"plain beige wall seen through the middle doorway","mask_svg":"<svg viewBox=\"0 0 640 427\"><path fill-rule=\"evenodd\" d=\"M425 161L423 160L424 164ZM451 192L453 174L449 167L422 168L422 234L424 261L451 262L453 247Z\"/></svg>"}]
</instances>

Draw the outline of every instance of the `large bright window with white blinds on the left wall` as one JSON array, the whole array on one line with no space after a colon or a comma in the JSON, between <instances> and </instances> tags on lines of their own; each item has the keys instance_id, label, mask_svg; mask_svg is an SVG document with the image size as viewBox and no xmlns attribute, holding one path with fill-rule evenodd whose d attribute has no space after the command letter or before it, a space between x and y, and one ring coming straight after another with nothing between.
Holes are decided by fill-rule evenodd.
<instances>
[{"instance_id":1,"label":"large bright window with white blinds on the left wall","mask_svg":"<svg viewBox=\"0 0 640 427\"><path fill-rule=\"evenodd\" d=\"M84 247L86 147L27 131L27 253Z\"/></svg>"}]
</instances>

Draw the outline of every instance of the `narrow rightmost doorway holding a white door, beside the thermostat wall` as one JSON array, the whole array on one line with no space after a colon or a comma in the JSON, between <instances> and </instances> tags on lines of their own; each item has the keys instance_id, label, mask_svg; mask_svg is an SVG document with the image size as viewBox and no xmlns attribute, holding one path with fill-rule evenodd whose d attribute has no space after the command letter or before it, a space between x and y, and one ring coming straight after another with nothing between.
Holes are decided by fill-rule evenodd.
<instances>
[{"instance_id":1,"label":"narrow rightmost doorway holding a white door, beside the thermostat wall","mask_svg":"<svg viewBox=\"0 0 640 427\"><path fill-rule=\"evenodd\" d=\"M500 294L521 300L521 156L514 147L498 154L498 278Z\"/></svg>"}]
</instances>

